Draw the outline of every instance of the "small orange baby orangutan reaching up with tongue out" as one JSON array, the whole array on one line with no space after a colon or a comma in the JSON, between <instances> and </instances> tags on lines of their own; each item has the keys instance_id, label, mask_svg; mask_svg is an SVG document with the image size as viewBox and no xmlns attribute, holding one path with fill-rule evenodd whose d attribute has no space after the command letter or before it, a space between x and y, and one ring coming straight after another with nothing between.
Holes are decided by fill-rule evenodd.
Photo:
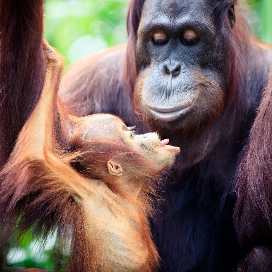
<instances>
[{"instance_id":1,"label":"small orange baby orangutan reaching up with tongue out","mask_svg":"<svg viewBox=\"0 0 272 272\"><path fill-rule=\"evenodd\" d=\"M0 175L2 229L11 222L36 235L71 234L68 271L156 271L152 181L179 148L113 115L67 115L57 98L61 58L47 44L44 52L42 94Z\"/></svg>"}]
</instances>

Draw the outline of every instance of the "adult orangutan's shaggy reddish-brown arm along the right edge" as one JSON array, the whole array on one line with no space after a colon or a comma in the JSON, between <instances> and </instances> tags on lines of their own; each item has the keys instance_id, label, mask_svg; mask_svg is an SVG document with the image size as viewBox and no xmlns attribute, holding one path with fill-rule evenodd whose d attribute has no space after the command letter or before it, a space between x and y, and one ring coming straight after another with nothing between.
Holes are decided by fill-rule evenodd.
<instances>
[{"instance_id":1,"label":"adult orangutan's shaggy reddish-brown arm along the right edge","mask_svg":"<svg viewBox=\"0 0 272 272\"><path fill-rule=\"evenodd\" d=\"M234 219L245 248L237 271L270 271L272 261L272 69L237 171ZM258 246L256 246L258 245Z\"/></svg>"}]
</instances>

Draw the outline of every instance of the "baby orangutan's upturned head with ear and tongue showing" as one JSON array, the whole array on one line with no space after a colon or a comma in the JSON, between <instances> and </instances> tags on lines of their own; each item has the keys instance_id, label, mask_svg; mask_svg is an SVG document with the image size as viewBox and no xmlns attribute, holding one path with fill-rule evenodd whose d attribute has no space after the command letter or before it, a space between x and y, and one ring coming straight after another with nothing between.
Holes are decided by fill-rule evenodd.
<instances>
[{"instance_id":1,"label":"baby orangutan's upturned head with ear and tongue showing","mask_svg":"<svg viewBox=\"0 0 272 272\"><path fill-rule=\"evenodd\" d=\"M141 183L172 166L179 147L160 141L157 133L135 134L113 115L95 114L79 119L72 146L83 150L75 168L86 177L137 196Z\"/></svg>"}]
</instances>

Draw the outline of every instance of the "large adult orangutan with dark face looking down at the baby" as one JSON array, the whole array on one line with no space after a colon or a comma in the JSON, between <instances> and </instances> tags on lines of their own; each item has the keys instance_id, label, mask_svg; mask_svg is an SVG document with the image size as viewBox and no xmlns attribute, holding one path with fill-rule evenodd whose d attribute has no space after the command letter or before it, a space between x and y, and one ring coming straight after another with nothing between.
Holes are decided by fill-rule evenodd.
<instances>
[{"instance_id":1,"label":"large adult orangutan with dark face looking down at the baby","mask_svg":"<svg viewBox=\"0 0 272 272\"><path fill-rule=\"evenodd\" d=\"M247 16L235 0L132 0L126 47L63 78L70 113L115 113L180 147L152 223L161 271L270 271L272 48Z\"/></svg>"}]
</instances>

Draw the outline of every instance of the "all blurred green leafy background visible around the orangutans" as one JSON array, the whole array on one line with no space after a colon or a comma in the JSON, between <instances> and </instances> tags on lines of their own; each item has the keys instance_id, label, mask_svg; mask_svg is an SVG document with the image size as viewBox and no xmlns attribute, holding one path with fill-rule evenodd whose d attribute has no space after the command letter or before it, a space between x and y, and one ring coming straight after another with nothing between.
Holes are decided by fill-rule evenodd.
<instances>
[{"instance_id":1,"label":"all blurred green leafy background visible around the orangutans","mask_svg":"<svg viewBox=\"0 0 272 272\"><path fill-rule=\"evenodd\" d=\"M243 1L253 14L255 35L272 44L272 0ZM126 42L126 11L129 0L46 0L45 38L60 51L69 65L85 55ZM46 241L33 239L31 230L11 243L8 265L63 268L69 258L54 249L55 233ZM17 237L18 238L18 237ZM57 263L54 263L57 256Z\"/></svg>"}]
</instances>

